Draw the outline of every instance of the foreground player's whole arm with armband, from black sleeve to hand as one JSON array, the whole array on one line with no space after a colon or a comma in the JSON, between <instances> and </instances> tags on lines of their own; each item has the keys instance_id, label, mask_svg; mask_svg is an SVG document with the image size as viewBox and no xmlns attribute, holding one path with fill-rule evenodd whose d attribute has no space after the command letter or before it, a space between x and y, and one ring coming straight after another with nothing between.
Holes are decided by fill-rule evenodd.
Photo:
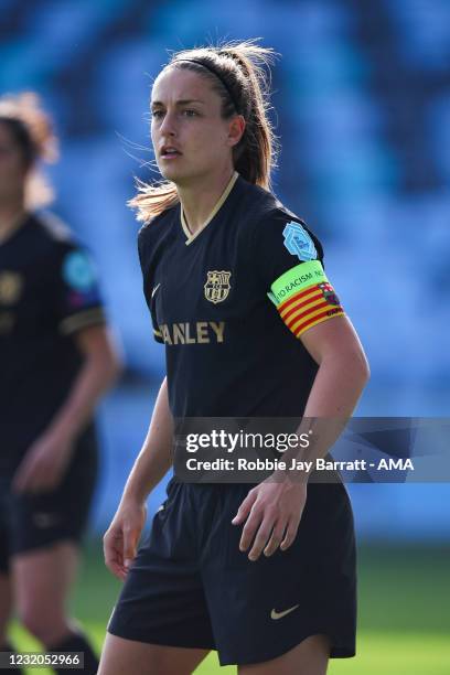
<instances>
[{"instance_id":1,"label":"foreground player's whole arm with armband, from black sleeve to hand","mask_svg":"<svg viewBox=\"0 0 450 675\"><path fill-rule=\"evenodd\" d=\"M303 224L304 225L304 224ZM325 276L320 243L298 222L277 219L258 231L254 242L262 282L280 319L302 342L319 368L309 394L298 435L312 438L308 457L326 454L341 433L368 378L368 365L356 333L344 315L340 300ZM294 258L300 262L292 266ZM275 281L274 281L275 279ZM314 418L311 420L311 418ZM283 454L287 465L299 450ZM245 523L239 547L250 560L264 551L286 550L293 542L307 500L308 474L276 472L250 490L242 503L235 525Z\"/></svg>"}]
</instances>

